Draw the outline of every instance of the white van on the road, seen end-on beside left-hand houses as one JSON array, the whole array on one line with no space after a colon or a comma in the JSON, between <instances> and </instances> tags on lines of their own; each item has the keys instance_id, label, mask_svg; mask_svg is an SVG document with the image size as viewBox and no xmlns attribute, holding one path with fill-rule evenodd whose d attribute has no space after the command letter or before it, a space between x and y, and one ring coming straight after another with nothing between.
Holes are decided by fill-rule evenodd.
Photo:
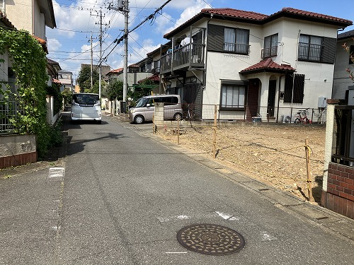
<instances>
[{"instance_id":1,"label":"white van on the road, seen end-on beside left-hand houses","mask_svg":"<svg viewBox=\"0 0 354 265\"><path fill-rule=\"evenodd\" d=\"M72 95L71 119L74 121L102 121L101 102L98 94L78 93Z\"/></svg>"}]
</instances>

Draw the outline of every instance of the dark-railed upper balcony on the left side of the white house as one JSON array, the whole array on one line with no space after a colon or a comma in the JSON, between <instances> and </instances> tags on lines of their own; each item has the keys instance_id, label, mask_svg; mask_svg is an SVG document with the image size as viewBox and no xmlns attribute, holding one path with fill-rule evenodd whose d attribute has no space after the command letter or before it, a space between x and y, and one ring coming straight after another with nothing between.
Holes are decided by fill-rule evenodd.
<instances>
[{"instance_id":1,"label":"dark-railed upper balcony on the left side of the white house","mask_svg":"<svg viewBox=\"0 0 354 265\"><path fill-rule=\"evenodd\" d=\"M181 69L204 69L205 45L188 44L161 57L160 73L169 73Z\"/></svg>"}]
</instances>

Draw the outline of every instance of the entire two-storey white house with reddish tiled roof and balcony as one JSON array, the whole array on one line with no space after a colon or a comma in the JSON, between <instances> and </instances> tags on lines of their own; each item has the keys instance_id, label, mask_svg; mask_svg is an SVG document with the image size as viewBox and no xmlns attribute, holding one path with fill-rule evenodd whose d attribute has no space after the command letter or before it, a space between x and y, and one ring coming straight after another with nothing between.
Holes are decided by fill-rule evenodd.
<instances>
[{"instance_id":1,"label":"entire two-storey white house with reddish tiled roof and balcony","mask_svg":"<svg viewBox=\"0 0 354 265\"><path fill-rule=\"evenodd\" d=\"M164 37L161 86L199 119L281 121L331 98L337 30L352 21L295 8L273 15L202 9ZM165 52L166 50L166 52ZM210 105L210 106L208 106ZM296 113L296 112L295 112Z\"/></svg>"}]
</instances>

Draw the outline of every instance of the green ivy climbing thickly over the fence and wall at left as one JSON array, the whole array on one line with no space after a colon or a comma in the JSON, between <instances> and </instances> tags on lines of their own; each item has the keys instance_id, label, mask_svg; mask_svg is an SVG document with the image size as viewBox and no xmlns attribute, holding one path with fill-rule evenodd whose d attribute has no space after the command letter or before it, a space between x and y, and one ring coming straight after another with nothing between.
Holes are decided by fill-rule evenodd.
<instances>
[{"instance_id":1,"label":"green ivy climbing thickly over the fence and wall at left","mask_svg":"<svg viewBox=\"0 0 354 265\"><path fill-rule=\"evenodd\" d=\"M47 123L46 54L28 32L0 28L0 54L6 52L16 73L17 91L13 96L18 99L18 113L11 122L18 134L36 134L38 153L45 155L52 140L52 128Z\"/></svg>"}]
</instances>

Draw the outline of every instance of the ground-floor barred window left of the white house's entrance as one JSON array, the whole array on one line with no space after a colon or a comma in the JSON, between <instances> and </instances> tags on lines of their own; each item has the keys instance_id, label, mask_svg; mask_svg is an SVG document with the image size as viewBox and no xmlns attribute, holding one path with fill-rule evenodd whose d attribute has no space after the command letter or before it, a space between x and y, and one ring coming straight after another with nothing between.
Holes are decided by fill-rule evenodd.
<instances>
[{"instance_id":1,"label":"ground-floor barred window left of the white house's entrance","mask_svg":"<svg viewBox=\"0 0 354 265\"><path fill-rule=\"evenodd\" d=\"M238 109L244 107L246 86L244 85L222 85L220 107L222 109Z\"/></svg>"}]
</instances>

